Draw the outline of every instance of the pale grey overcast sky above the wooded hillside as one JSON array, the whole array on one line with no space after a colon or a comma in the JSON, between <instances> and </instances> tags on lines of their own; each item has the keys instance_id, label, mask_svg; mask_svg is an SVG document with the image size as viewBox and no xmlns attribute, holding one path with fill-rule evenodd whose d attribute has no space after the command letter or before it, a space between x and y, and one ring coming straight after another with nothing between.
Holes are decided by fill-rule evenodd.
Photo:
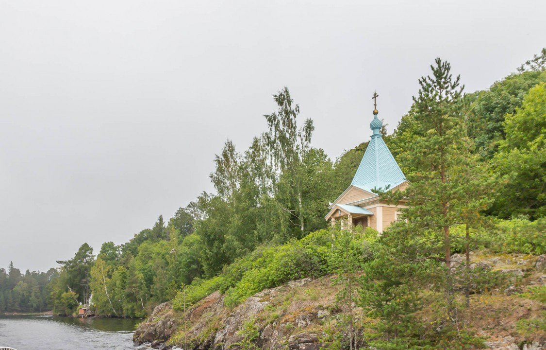
<instances>
[{"instance_id":1,"label":"pale grey overcast sky above the wooded hillside","mask_svg":"<svg viewBox=\"0 0 546 350\"><path fill-rule=\"evenodd\" d=\"M288 86L332 159L436 57L466 91L546 46L546 1L0 0L0 267L127 242L211 191Z\"/></svg>"}]
</instances>

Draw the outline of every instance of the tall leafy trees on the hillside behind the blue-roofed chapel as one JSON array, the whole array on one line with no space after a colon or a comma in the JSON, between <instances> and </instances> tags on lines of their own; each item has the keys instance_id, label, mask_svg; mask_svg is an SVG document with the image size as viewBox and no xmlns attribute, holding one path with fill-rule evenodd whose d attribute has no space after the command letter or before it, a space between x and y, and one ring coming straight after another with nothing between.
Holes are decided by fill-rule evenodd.
<instances>
[{"instance_id":1,"label":"tall leafy trees on the hillside behind the blue-roofed chapel","mask_svg":"<svg viewBox=\"0 0 546 350\"><path fill-rule=\"evenodd\" d=\"M462 94L458 88L453 96L442 96L451 91L449 84L454 84L450 75L437 78L446 80L446 90L437 90L436 82L429 86L424 81L423 89L430 91L419 91L419 98L391 135L382 129L408 180L418 184L426 162L436 156L431 153L419 160L416 147L422 147L420 154L425 154L427 143L442 149L449 141L451 153L446 156L450 159L440 159L438 164L451 161L456 168L456 161L460 161L462 168L472 160L472 168L483 166L487 171L488 183L483 186L473 183L474 187L456 188L468 190L469 198L471 191L494 188L486 200L476 204L480 215L531 221L546 216L545 60L543 50L518 73L472 94ZM446 71L441 66L432 69ZM442 106L442 98L450 106ZM268 127L254 137L251 147L241 152L228 140L216 155L216 169L210 175L215 194L201 194L167 222L160 215L152 228L121 246L106 242L94 256L85 243L73 259L58 261L58 276L52 276L49 286L52 310L73 313L78 303L85 303L92 294L98 314L143 317L154 306L173 299L181 286L217 276L257 247L300 240L326 228L328 203L351 183L367 142L331 160L324 150L311 147L312 120L298 124L300 109L288 89L279 91L274 100L277 110L265 115ZM436 109L428 110L428 106ZM446 121L438 112L441 108L451 113ZM427 113L435 111L438 120L447 123L445 130L453 134L443 135L442 125L426 119ZM366 120L365 115L355 120L363 139L367 139ZM472 181L472 174L457 171ZM434 186L434 182L426 185ZM455 194L464 198L461 192ZM7 289L13 294L19 281L9 283Z\"/></svg>"}]
</instances>

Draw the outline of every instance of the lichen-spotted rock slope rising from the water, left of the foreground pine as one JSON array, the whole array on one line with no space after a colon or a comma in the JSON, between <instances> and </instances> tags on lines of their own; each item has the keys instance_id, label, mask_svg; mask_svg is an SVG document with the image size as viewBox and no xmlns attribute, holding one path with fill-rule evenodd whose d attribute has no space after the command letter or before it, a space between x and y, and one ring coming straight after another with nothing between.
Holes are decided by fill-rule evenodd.
<instances>
[{"instance_id":1,"label":"lichen-spotted rock slope rising from the water, left of the foreground pine","mask_svg":"<svg viewBox=\"0 0 546 350\"><path fill-rule=\"evenodd\" d=\"M305 300L307 293L310 293L306 285L312 282L311 278L305 278L290 281L286 286L265 289L233 310L224 306L223 296L216 292L194 305L186 317L173 311L170 303L164 303L155 308L146 322L139 325L133 340L137 345L151 343L152 347L157 347L173 335L176 325L180 325L178 331L182 331L184 336L179 342L187 348L237 350L244 340L240 330L251 321L259 330L257 343L260 347L283 350L288 345L293 350L319 350L319 335L300 330L330 316L329 310L315 307L314 304L320 301L332 304L337 288L332 287L329 281L322 281L320 283L323 287L331 289L333 293L327 294L324 300ZM302 300L296 303L297 306L279 306L289 293L302 294ZM313 298L314 295L307 299ZM266 307L272 313L264 312ZM275 312L277 308L279 310ZM266 317L265 314L270 316ZM187 329L183 329L185 326Z\"/></svg>"}]
</instances>

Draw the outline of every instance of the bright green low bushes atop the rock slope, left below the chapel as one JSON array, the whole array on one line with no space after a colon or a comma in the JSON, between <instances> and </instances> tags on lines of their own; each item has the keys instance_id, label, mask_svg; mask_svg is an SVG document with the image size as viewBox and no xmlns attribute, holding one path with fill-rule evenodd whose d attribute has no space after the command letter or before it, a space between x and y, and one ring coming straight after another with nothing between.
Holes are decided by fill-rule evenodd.
<instances>
[{"instance_id":1,"label":"bright green low bushes atop the rock slope, left below the chapel","mask_svg":"<svg viewBox=\"0 0 546 350\"><path fill-rule=\"evenodd\" d=\"M355 235L358 249L352 250L357 258L369 259L370 242L376 234L365 231ZM273 288L293 279L320 277L335 270L331 266L337 254L333 249L334 231L319 230L301 240L292 240L280 246L260 246L252 253L224 267L222 273L209 280L195 279L179 291L173 301L176 310L203 299L218 290L225 294L224 303L231 307L265 288Z\"/></svg>"}]
</instances>

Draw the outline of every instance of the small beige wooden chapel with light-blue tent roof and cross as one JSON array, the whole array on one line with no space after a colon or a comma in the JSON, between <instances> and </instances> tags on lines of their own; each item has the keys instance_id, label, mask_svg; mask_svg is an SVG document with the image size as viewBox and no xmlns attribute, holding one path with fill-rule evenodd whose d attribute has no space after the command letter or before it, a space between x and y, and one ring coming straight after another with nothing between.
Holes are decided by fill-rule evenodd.
<instances>
[{"instance_id":1,"label":"small beige wooden chapel with light-blue tent roof and cross","mask_svg":"<svg viewBox=\"0 0 546 350\"><path fill-rule=\"evenodd\" d=\"M378 96L373 94L375 109L370 123L370 143L351 185L330 205L330 211L325 217L331 221L332 226L339 221L342 229L351 230L354 226L361 225L381 233L398 219L401 208L407 208L405 200L388 203L373 193L373 189L380 188L393 192L403 191L409 184L379 132L383 122L377 119Z\"/></svg>"}]
</instances>

